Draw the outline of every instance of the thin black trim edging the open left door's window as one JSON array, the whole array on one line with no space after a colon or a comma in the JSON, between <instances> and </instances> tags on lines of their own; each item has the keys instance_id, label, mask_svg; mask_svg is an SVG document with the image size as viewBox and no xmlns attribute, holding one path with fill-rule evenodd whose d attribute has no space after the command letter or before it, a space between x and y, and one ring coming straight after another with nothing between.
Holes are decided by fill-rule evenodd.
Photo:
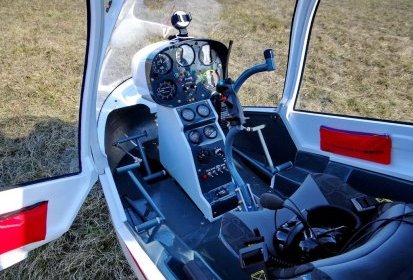
<instances>
[{"instance_id":1,"label":"thin black trim edging the open left door's window","mask_svg":"<svg viewBox=\"0 0 413 280\"><path fill-rule=\"evenodd\" d=\"M77 133L77 141L78 141L78 166L79 166L79 171L77 172L73 172L73 173L68 173L68 174L63 174L63 175L58 175L58 176L53 176L53 177L48 177L48 178L41 178L41 179L36 179L36 180L32 180L29 182L24 182L24 183L19 183L19 184L15 184L15 185L11 185L11 186L0 186L0 193L2 191L6 191L6 190L10 190L10 189L15 189L15 188L21 188L21 187L25 187L28 185L33 185L33 184L38 184L38 183L43 183L43 182L47 182L47 181L51 181L51 180L57 180L57 179L62 179L62 178L66 178L66 177L72 177L74 175L79 175L80 173L82 173L82 156L81 156L81 136L80 136L80 132L81 132L81 125L82 125L82 112L83 112L83 94L84 94L84 90L85 90L85 80L86 80L86 71L87 71L87 64L88 64L88 58L89 58L89 41L90 41L90 17L91 17L91 13L90 13L90 3L89 1L86 1L86 10L87 10L87 30L86 30L86 52L85 52L85 64L84 64L84 68L83 68L83 78L82 78L82 88L80 91L80 104L79 104L79 122L78 122L78 133Z\"/></svg>"}]
</instances>

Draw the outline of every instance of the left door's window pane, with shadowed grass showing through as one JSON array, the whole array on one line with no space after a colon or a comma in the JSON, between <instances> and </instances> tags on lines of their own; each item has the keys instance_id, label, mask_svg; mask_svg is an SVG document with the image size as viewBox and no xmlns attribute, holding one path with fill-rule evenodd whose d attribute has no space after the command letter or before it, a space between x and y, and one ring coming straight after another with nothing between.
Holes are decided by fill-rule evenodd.
<instances>
[{"instance_id":1,"label":"left door's window pane, with shadowed grass showing through","mask_svg":"<svg viewBox=\"0 0 413 280\"><path fill-rule=\"evenodd\" d=\"M84 1L3 1L0 190L75 173L86 47Z\"/></svg>"}]
</instances>

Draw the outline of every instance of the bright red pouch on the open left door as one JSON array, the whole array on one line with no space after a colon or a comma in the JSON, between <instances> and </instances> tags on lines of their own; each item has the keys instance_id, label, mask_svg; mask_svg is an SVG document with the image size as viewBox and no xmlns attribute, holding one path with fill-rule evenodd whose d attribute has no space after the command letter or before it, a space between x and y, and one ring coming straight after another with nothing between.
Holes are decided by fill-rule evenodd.
<instances>
[{"instance_id":1,"label":"bright red pouch on the open left door","mask_svg":"<svg viewBox=\"0 0 413 280\"><path fill-rule=\"evenodd\" d=\"M46 237L47 201L0 215L0 254Z\"/></svg>"}]
</instances>

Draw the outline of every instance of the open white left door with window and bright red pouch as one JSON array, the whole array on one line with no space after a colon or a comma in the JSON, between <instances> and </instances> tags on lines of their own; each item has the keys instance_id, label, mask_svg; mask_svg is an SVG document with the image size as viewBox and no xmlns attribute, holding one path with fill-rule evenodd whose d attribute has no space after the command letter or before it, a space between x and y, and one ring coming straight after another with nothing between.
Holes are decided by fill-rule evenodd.
<instances>
[{"instance_id":1,"label":"open white left door with window and bright red pouch","mask_svg":"<svg viewBox=\"0 0 413 280\"><path fill-rule=\"evenodd\" d=\"M65 233L97 181L106 24L104 1L13 1L1 14L0 270Z\"/></svg>"}]
</instances>

